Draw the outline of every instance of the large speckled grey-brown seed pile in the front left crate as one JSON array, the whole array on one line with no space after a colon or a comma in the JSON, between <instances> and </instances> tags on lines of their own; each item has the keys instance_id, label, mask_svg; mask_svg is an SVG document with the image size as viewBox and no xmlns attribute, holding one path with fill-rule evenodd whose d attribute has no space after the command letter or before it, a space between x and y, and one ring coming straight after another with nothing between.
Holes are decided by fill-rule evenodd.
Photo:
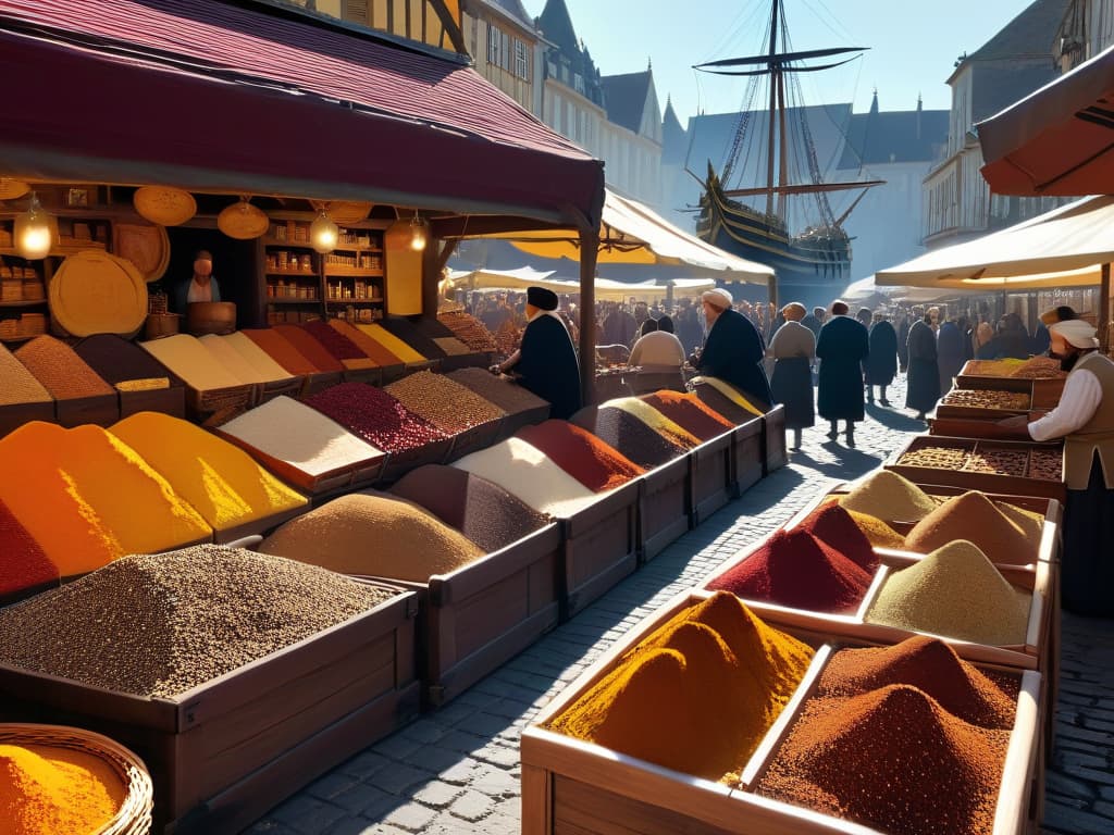
<instances>
[{"instance_id":1,"label":"large speckled grey-brown seed pile in the front left crate","mask_svg":"<svg viewBox=\"0 0 1114 835\"><path fill-rule=\"evenodd\" d=\"M126 557L0 611L0 661L174 698L393 595L236 548Z\"/></svg>"}]
</instances>

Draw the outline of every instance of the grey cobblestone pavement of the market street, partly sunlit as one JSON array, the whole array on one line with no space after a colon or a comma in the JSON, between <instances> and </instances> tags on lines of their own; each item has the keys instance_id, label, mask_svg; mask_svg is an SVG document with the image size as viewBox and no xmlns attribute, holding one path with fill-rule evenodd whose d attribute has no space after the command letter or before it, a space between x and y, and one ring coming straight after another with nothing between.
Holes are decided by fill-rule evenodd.
<instances>
[{"instance_id":1,"label":"grey cobblestone pavement of the market street, partly sunlit","mask_svg":"<svg viewBox=\"0 0 1114 835\"><path fill-rule=\"evenodd\" d=\"M815 495L874 469L924 431L905 402L868 405L856 449L827 423L804 432L771 473L600 600L436 713L398 730L273 809L248 832L270 835L510 835L520 828L518 737L537 710L645 616ZM1056 746L1045 831L1114 833L1114 621L1064 617Z\"/></svg>"}]
</instances>

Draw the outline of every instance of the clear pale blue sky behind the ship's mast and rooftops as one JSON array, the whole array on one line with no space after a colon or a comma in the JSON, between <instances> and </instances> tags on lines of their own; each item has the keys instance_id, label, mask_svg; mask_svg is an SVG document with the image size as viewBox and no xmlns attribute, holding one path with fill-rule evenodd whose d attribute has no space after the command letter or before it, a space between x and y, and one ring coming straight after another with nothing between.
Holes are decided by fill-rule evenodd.
<instances>
[{"instance_id":1,"label":"clear pale blue sky behind the ship's mast and rooftops","mask_svg":"<svg viewBox=\"0 0 1114 835\"><path fill-rule=\"evenodd\" d=\"M1032 0L784 0L795 49L870 47L843 67L801 73L809 104L853 101L882 110L948 109L945 84L964 52L974 52ZM681 124L697 111L737 110L745 79L696 73L692 65L759 51L769 0L566 0L577 36L605 76L636 72L653 61L662 108L666 96ZM522 0L538 16L545 0ZM836 59L838 60L838 59ZM815 62L815 61L814 61Z\"/></svg>"}]
</instances>

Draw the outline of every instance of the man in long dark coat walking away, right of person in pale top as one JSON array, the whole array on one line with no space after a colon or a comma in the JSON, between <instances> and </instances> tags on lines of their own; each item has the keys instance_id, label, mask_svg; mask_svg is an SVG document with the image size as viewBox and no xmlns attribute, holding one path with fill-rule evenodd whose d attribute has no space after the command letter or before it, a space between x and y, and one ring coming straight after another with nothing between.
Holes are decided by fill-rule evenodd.
<instances>
[{"instance_id":1,"label":"man in long dark coat walking away, right of person in pale top","mask_svg":"<svg viewBox=\"0 0 1114 835\"><path fill-rule=\"evenodd\" d=\"M848 315L846 303L832 302L832 315L820 328L817 357L820 360L820 384L817 411L831 423L828 436L839 436L836 422L847 421L847 445L854 446L854 423L861 421L862 361L870 355L870 337L858 320Z\"/></svg>"}]
</instances>

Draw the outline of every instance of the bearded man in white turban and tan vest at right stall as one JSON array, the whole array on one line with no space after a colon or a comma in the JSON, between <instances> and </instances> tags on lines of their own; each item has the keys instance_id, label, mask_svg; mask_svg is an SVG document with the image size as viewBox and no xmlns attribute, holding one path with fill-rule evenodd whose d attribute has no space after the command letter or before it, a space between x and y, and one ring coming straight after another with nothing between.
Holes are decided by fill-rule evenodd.
<instances>
[{"instance_id":1,"label":"bearded man in white turban and tan vest at right stall","mask_svg":"<svg viewBox=\"0 0 1114 835\"><path fill-rule=\"evenodd\" d=\"M1048 356L1069 372L1059 404L1029 422L1028 415L998 425L1026 439L1064 439L1064 608L1079 615L1114 617L1114 362L1100 353L1095 328L1071 307L1042 317L1048 325Z\"/></svg>"}]
</instances>

